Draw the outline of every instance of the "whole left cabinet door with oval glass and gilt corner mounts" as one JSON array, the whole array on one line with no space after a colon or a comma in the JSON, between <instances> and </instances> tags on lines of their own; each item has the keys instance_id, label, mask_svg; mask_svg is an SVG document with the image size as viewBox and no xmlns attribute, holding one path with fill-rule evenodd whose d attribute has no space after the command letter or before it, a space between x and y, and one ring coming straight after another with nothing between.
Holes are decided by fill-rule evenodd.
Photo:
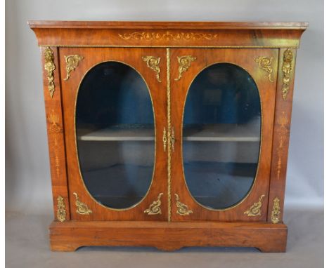
<instances>
[{"instance_id":1,"label":"whole left cabinet door with oval glass and gilt corner mounts","mask_svg":"<svg viewBox=\"0 0 329 268\"><path fill-rule=\"evenodd\" d=\"M72 220L167 220L165 58L60 48Z\"/></svg>"}]
</instances>

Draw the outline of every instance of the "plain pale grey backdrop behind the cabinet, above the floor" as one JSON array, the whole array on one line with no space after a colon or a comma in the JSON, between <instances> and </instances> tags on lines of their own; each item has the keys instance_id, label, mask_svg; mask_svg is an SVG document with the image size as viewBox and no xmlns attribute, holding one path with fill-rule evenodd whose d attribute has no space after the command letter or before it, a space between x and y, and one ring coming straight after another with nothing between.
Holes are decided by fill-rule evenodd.
<instances>
[{"instance_id":1,"label":"plain pale grey backdrop behind the cabinet, above the floor","mask_svg":"<svg viewBox=\"0 0 329 268\"><path fill-rule=\"evenodd\" d=\"M286 206L322 206L323 1L7 0L6 210L49 214L41 56L27 20L308 21L297 53Z\"/></svg>"}]
</instances>

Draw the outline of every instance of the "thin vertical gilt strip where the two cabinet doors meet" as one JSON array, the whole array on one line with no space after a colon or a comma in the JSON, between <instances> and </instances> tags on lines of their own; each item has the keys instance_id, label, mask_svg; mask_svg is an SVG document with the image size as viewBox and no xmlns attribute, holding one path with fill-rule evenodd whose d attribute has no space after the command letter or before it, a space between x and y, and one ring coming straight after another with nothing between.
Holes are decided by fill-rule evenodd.
<instances>
[{"instance_id":1,"label":"thin vertical gilt strip where the two cabinet doors meet","mask_svg":"<svg viewBox=\"0 0 329 268\"><path fill-rule=\"evenodd\" d=\"M170 48L167 48L167 142L168 142L168 164L167 164L167 176L168 176L168 222L172 220L172 146L171 138L172 122L170 118Z\"/></svg>"}]
</instances>

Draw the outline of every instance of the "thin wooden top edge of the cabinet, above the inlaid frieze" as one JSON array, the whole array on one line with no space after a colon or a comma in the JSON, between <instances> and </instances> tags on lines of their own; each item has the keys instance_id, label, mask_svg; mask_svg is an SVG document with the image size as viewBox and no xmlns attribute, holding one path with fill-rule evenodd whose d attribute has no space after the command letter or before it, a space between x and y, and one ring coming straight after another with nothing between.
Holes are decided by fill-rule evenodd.
<instances>
[{"instance_id":1,"label":"thin wooden top edge of the cabinet, above the inlaid frieze","mask_svg":"<svg viewBox=\"0 0 329 268\"><path fill-rule=\"evenodd\" d=\"M91 29L306 29L308 22L145 22L29 20L33 28Z\"/></svg>"}]
</instances>

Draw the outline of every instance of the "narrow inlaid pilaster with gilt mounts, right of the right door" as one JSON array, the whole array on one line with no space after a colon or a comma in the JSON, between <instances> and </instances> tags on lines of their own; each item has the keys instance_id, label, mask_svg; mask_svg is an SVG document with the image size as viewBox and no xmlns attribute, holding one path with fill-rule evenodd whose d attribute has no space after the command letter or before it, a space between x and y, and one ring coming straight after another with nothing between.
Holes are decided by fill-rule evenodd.
<instances>
[{"instance_id":1,"label":"narrow inlaid pilaster with gilt mounts, right of the right door","mask_svg":"<svg viewBox=\"0 0 329 268\"><path fill-rule=\"evenodd\" d=\"M273 223L282 222L283 219L296 53L297 50L293 48L280 48L279 52L271 183L267 216L267 221Z\"/></svg>"}]
</instances>

